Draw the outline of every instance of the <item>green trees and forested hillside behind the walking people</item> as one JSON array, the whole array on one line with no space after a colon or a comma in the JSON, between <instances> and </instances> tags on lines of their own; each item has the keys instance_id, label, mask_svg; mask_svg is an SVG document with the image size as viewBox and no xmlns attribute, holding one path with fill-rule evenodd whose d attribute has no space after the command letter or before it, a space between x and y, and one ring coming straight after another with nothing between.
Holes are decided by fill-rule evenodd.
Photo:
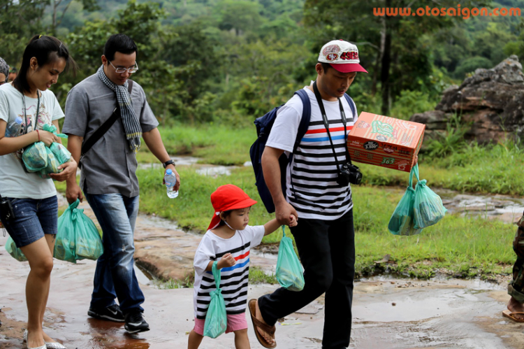
<instances>
[{"instance_id":1,"label":"green trees and forested hillside behind the walking people","mask_svg":"<svg viewBox=\"0 0 524 349\"><path fill-rule=\"evenodd\" d=\"M524 8L524 0L458 1L463 7ZM424 8L419 0L3 0L0 57L17 66L34 34L57 36L80 73L61 76L66 92L101 64L108 36L138 45L133 75L163 123L248 124L315 78L321 46L358 45L350 93L359 110L408 113L428 108L451 83L508 55L524 59L524 17L381 16L374 8ZM434 4L433 6L437 6ZM439 7L457 7L442 0Z\"/></svg>"}]
</instances>

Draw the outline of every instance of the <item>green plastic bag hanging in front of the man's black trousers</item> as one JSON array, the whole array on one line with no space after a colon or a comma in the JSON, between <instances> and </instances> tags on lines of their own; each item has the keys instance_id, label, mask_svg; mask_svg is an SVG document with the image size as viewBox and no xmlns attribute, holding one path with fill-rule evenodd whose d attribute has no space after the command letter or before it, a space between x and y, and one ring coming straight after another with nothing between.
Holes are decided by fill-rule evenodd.
<instances>
[{"instance_id":1,"label":"green plastic bag hanging in front of the man's black trousers","mask_svg":"<svg viewBox=\"0 0 524 349\"><path fill-rule=\"evenodd\" d=\"M278 283L290 291L302 291L304 288L304 271L296 256L293 241L286 236L282 225L282 240L278 247L277 272Z\"/></svg>"}]
</instances>

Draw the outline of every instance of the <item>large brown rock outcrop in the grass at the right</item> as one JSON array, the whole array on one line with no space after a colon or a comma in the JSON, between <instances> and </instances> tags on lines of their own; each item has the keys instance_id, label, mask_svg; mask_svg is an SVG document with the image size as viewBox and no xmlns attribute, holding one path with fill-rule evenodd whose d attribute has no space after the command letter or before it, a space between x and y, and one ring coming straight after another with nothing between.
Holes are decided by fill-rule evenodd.
<instances>
[{"instance_id":1,"label":"large brown rock outcrop in the grass at the right","mask_svg":"<svg viewBox=\"0 0 524 349\"><path fill-rule=\"evenodd\" d=\"M467 141L493 143L506 137L524 137L524 73L516 55L492 69L476 69L460 86L442 93L435 111L416 113L409 120L426 125L425 138L446 130L454 115L470 125Z\"/></svg>"}]
</instances>

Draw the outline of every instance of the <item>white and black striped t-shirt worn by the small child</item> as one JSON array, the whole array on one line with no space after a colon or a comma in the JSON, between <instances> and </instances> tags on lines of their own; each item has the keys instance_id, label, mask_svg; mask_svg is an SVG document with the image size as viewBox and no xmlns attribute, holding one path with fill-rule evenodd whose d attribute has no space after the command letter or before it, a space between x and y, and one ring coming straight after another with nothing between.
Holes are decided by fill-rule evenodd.
<instances>
[{"instance_id":1,"label":"white and black striped t-shirt worn by the small child","mask_svg":"<svg viewBox=\"0 0 524 349\"><path fill-rule=\"evenodd\" d=\"M216 290L211 271L205 271L210 261L219 260L226 253L235 258L235 265L220 269L220 288L226 303L226 313L246 311L247 283L249 278L249 250L259 245L264 237L264 226L247 226L237 230L231 238L221 238L210 230L196 248L194 267L195 284L193 305L195 318L205 319L211 301L210 292Z\"/></svg>"}]
</instances>

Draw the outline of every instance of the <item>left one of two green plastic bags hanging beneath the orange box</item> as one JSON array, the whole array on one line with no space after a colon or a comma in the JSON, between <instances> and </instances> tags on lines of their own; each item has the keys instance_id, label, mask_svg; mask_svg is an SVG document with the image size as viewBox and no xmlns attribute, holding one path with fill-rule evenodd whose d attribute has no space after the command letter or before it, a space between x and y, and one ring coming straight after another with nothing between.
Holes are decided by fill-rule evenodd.
<instances>
[{"instance_id":1,"label":"left one of two green plastic bags hanging beneath the orange box","mask_svg":"<svg viewBox=\"0 0 524 349\"><path fill-rule=\"evenodd\" d=\"M388 230L395 235L416 235L422 232L422 229L415 228L414 204L415 190L413 189L413 176L419 180L419 164L413 166L409 172L409 183L407 190L398 202L391 219L389 220Z\"/></svg>"}]
</instances>

